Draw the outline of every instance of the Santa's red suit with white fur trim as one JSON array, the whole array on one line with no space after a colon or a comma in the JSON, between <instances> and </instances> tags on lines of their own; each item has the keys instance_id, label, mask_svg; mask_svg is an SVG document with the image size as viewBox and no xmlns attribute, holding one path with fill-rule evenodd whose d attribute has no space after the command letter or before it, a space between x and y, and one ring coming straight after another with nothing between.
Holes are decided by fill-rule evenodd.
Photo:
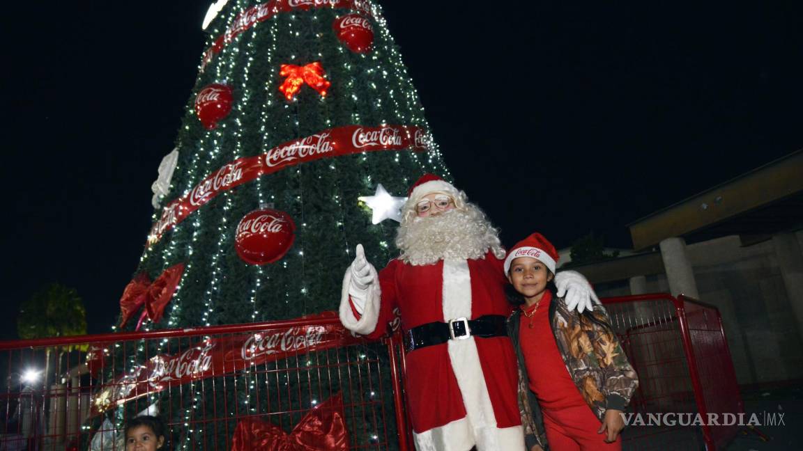
<instances>
[{"instance_id":1,"label":"Santa's red suit with white fur trim","mask_svg":"<svg viewBox=\"0 0 803 451\"><path fill-rule=\"evenodd\" d=\"M399 259L366 289L358 314L349 301L352 274L346 271L340 303L345 327L369 337L385 334L399 309L402 329L450 319L507 316L503 260L440 260L414 266ZM524 449L516 398L516 354L507 336L450 339L406 356L406 391L419 450L467 451Z\"/></svg>"}]
</instances>

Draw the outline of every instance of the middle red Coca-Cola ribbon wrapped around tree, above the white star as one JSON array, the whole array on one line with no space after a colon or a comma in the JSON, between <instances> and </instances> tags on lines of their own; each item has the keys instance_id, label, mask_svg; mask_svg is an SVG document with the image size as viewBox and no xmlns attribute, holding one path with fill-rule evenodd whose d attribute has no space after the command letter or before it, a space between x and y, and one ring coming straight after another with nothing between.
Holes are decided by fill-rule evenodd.
<instances>
[{"instance_id":1,"label":"middle red Coca-Cola ribbon wrapped around tree, above the white star","mask_svg":"<svg viewBox=\"0 0 803 451\"><path fill-rule=\"evenodd\" d=\"M329 128L298 140L287 141L262 155L238 158L206 177L190 193L165 205L161 217L151 228L148 244L153 246L166 231L184 221L190 213L201 208L218 193L253 181L257 177L320 158L406 148L426 151L429 145L428 133L423 128L413 125L381 127L345 125Z\"/></svg>"}]
</instances>

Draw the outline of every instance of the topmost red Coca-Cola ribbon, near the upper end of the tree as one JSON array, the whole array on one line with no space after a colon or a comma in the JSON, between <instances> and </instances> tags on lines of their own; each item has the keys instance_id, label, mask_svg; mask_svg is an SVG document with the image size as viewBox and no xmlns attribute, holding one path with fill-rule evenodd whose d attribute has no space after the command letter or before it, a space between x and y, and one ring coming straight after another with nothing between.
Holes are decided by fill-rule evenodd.
<instances>
[{"instance_id":1,"label":"topmost red Coca-Cola ribbon, near the upper end of the tree","mask_svg":"<svg viewBox=\"0 0 803 451\"><path fill-rule=\"evenodd\" d=\"M257 22L264 22L279 13L289 13L294 10L311 10L312 8L340 8L345 10L356 10L363 14L371 13L371 5L364 0L271 0L261 5L252 6L243 10L234 18L234 22L226 29L222 35L215 39L212 47L204 52L201 63L201 71L204 70L215 54L220 53L226 44L230 43L243 31L248 30Z\"/></svg>"}]
</instances>

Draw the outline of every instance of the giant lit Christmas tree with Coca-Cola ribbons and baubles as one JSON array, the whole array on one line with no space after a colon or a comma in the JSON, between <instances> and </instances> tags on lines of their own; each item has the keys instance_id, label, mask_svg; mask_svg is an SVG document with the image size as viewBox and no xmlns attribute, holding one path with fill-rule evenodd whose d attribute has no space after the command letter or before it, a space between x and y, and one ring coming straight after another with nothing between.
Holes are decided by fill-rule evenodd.
<instances>
[{"instance_id":1,"label":"giant lit Christmas tree with Coca-Cola ribbons and baubles","mask_svg":"<svg viewBox=\"0 0 803 451\"><path fill-rule=\"evenodd\" d=\"M120 331L255 323L336 310L358 243L372 262L397 254L397 224L381 221L393 217L398 206L392 196L404 196L423 173L449 178L375 2L222 1L207 19L207 49L176 148L162 161L154 184L158 208L124 295L129 302L121 301ZM161 287L153 301L156 311L136 302L151 280ZM197 345L190 340L179 347ZM134 372L170 351L161 343L117 350L106 377ZM358 352L356 359L370 360L368 353ZM304 362L296 356L271 365L263 372ZM248 404L251 396L270 400L276 386L316 384L310 374L303 382L288 377L287 370L272 382L250 371L243 372L246 384L267 391L232 394L193 383L125 404L107 417L119 425L153 402L181 406L166 414L173 442L208 448L209 429L218 428L212 435L227 441L235 428L191 426L203 424L203 406L267 415L269 410ZM369 377L373 386L384 387L377 389L381 393L344 392L347 411L349 404L388 396L389 385L380 380L386 372ZM303 399L284 405L295 412L282 420L285 430L311 405L336 396L333 389L320 392L320 385L317 393L298 390ZM365 421L369 426L346 414L353 444L376 443L377 429L393 429L377 422L377 412L362 411L373 416L373 422ZM232 412L224 414L237 420Z\"/></svg>"}]
</instances>

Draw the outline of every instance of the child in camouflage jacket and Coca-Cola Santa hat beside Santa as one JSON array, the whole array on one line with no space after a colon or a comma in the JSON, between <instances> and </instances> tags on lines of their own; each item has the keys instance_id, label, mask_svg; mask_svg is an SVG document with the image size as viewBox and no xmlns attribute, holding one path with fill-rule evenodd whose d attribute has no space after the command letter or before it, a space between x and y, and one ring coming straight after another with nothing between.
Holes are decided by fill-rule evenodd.
<instances>
[{"instance_id":1,"label":"child in camouflage jacket and Coca-Cola Santa hat beside Santa","mask_svg":"<svg viewBox=\"0 0 803 451\"><path fill-rule=\"evenodd\" d=\"M605 309L569 311L554 294L555 247L532 234L504 271L520 303L507 322L519 357L520 407L529 450L621 450L622 411L638 387ZM559 301L560 302L557 302ZM602 435L600 435L602 434Z\"/></svg>"}]
</instances>

